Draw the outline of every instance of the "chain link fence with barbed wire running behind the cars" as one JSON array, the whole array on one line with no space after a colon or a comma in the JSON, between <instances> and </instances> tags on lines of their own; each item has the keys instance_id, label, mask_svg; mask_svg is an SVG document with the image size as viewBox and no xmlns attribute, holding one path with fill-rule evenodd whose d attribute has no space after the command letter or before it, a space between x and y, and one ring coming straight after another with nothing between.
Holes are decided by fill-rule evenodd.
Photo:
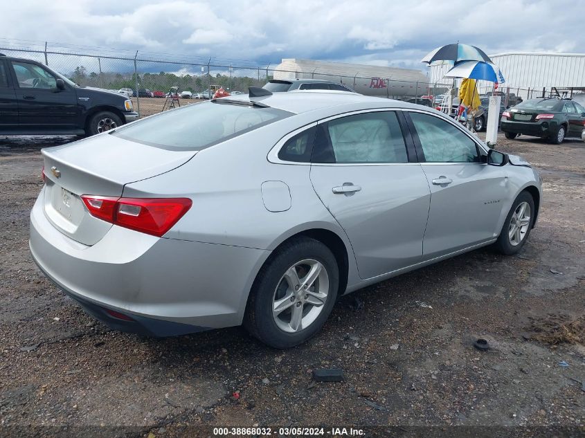
<instances>
[{"instance_id":1,"label":"chain link fence with barbed wire running behind the cars","mask_svg":"<svg viewBox=\"0 0 585 438\"><path fill-rule=\"evenodd\" d=\"M82 86L93 86L111 91L126 91L132 95L134 108L141 116L168 108L164 105L172 93L179 95L177 104L188 104L194 99L206 99L223 88L229 93L246 93L250 86L263 86L271 79L315 78L340 82L367 95L406 100L437 106L444 101L444 93L458 95L460 80L435 82L407 82L388 77L339 76L321 71L284 71L267 66L237 65L213 57L186 57L181 55L141 54L108 48L84 46L50 46L47 43L13 44L0 39L0 52L42 62ZM503 102L516 104L520 99L555 95L555 89L526 89L503 84L498 93ZM478 84L480 95L494 93L492 84ZM561 91L562 93L562 91ZM557 93L559 97L563 97ZM437 96L442 95L440 98Z\"/></svg>"}]
</instances>

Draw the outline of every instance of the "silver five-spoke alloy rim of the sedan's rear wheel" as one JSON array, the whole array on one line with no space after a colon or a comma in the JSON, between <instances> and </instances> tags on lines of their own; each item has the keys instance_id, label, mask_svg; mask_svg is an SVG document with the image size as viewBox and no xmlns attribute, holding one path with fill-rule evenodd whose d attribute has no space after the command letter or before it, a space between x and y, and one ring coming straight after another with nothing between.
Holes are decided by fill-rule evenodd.
<instances>
[{"instance_id":1,"label":"silver five-spoke alloy rim of the sedan's rear wheel","mask_svg":"<svg viewBox=\"0 0 585 438\"><path fill-rule=\"evenodd\" d=\"M329 274L321 262L304 259L282 275L272 300L272 316L279 329L297 333L319 316L329 294Z\"/></svg>"}]
</instances>

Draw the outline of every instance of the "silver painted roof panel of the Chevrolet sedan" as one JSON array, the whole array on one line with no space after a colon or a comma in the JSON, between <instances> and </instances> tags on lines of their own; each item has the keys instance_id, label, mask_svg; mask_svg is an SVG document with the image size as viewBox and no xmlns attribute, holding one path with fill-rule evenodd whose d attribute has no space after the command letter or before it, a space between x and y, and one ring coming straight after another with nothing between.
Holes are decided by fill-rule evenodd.
<instances>
[{"instance_id":1,"label":"silver painted roof panel of the Chevrolet sedan","mask_svg":"<svg viewBox=\"0 0 585 438\"><path fill-rule=\"evenodd\" d=\"M352 105L370 106L372 108L405 108L405 109L429 109L421 105L403 102L401 100L393 100L386 98L375 98L358 93L351 93L348 91L332 91L332 90L303 90L290 91L289 93L272 93L271 95L264 95L250 98L248 94L237 94L229 98L229 100L237 100L242 102L259 102L269 107L289 111L290 113L305 113L308 111L316 111L318 109L339 107Z\"/></svg>"}]
</instances>

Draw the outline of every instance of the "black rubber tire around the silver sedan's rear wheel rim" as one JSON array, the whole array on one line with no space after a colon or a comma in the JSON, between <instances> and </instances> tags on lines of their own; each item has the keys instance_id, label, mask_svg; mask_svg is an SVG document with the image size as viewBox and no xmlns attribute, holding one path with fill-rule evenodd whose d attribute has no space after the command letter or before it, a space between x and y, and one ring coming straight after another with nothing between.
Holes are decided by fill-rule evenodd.
<instances>
[{"instance_id":1,"label":"black rubber tire around the silver sedan's rear wheel rim","mask_svg":"<svg viewBox=\"0 0 585 438\"><path fill-rule=\"evenodd\" d=\"M285 272L294 264L314 259L320 262L329 277L329 289L321 313L306 328L288 333L276 324L273 317L273 298ZM312 338L329 317L337 298L339 268L327 246L309 237L300 237L278 248L262 266L250 291L244 327L264 344L277 349L291 348Z\"/></svg>"}]
</instances>

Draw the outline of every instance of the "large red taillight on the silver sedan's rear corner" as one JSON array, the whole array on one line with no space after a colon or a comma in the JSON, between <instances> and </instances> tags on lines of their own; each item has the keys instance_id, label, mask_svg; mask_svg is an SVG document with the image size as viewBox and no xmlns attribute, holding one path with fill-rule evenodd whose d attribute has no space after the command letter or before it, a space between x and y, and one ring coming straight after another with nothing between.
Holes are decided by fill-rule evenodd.
<instances>
[{"instance_id":1,"label":"large red taillight on the silver sedan's rear corner","mask_svg":"<svg viewBox=\"0 0 585 438\"><path fill-rule=\"evenodd\" d=\"M104 221L161 237L191 208L188 198L111 198L84 194L89 213Z\"/></svg>"}]
</instances>

